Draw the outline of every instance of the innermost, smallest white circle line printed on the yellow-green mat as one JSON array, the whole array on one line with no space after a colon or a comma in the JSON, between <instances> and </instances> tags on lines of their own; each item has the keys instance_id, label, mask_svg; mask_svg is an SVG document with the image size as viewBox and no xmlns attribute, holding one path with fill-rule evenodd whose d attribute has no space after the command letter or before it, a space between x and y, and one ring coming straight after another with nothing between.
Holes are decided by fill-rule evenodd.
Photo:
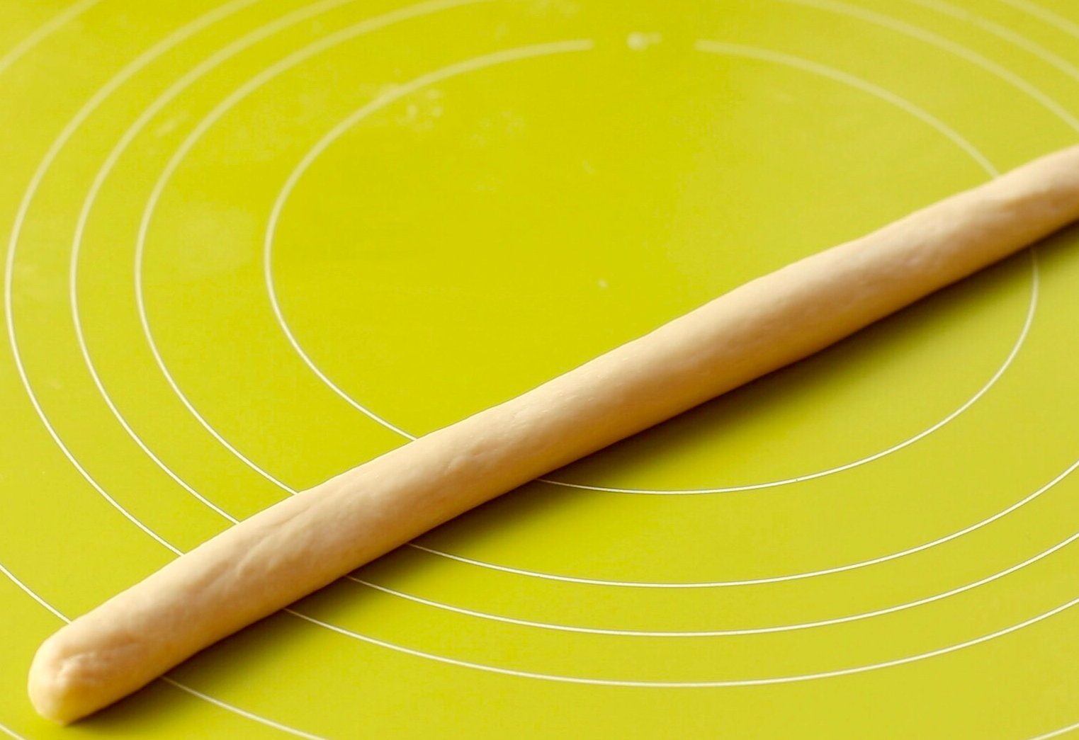
<instances>
[{"instance_id":1,"label":"innermost, smallest white circle line printed on the yellow-green mat","mask_svg":"<svg viewBox=\"0 0 1079 740\"><path fill-rule=\"evenodd\" d=\"M839 82L842 84L846 84L846 85L855 87L857 90L861 90L861 91L863 91L865 93L869 93L869 94L871 94L871 95L873 95L873 96L875 96L875 97L877 97L879 99L883 99L883 100L885 100L885 101L887 101L887 102L889 102L889 104L891 104L891 105L900 108L901 110L910 113L911 115L913 115L914 118L918 119L923 123L926 123L927 125L929 125L932 128L934 128L935 131L938 131L945 138L947 138L948 140L951 140L953 143L955 143L957 147L959 147L959 149L961 149L964 152L966 152L971 159L973 159L991 177L995 177L995 176L997 176L999 174L998 170L997 170L997 168L988 161L988 159L986 159L984 154L982 154L973 145L971 145L967 139L965 139L958 132L956 132L955 129L953 129L952 127L950 127L947 124L945 124L944 122L942 122L940 119L938 119L938 118L933 117L932 114L930 114L928 111L926 111L926 110L919 108L918 106L914 105L910 100L907 100L907 99L905 99L905 98L903 98L903 97L901 97L899 95L896 95L894 93L891 93L890 91L887 91L887 90L885 90L883 87L879 87L878 85L875 85L875 84L869 82L868 80L864 80L862 78L856 77L853 74L849 74L849 73L844 72L842 70L834 69L832 67L828 67L825 65L821 65L821 64L818 64L818 63L815 63L815 61L810 61L808 59L804 59L802 57L797 57L797 56L793 56L793 55L789 55L789 54L782 54L782 53L779 53L779 52L774 52L774 51L770 51L770 50L760 49L760 47L756 47L756 46L747 46L747 45L741 45L741 44L722 43L722 42L719 42L719 41L700 40L700 41L697 42L696 47L699 51L708 52L708 53L712 53L712 54L742 56L742 57L747 57L747 58L755 58L755 59L766 60L766 61L770 61L770 63L774 63L774 64L781 64L781 65L784 65L784 66L789 66L789 67L793 67L793 68L796 68L796 69L801 69L803 71L807 71L807 72L810 72L810 73L814 73L814 74L818 74L818 76L827 78L827 79L831 79L833 81ZM327 135L327 138L330 138L329 135ZM319 141L319 145L322 145L322 143L323 142ZM326 146L328 147L331 143L332 143L332 140L328 141L326 143ZM325 149L325 147L323 147L322 149ZM265 273L264 274L264 279L265 279L265 284L267 284L267 292L268 292L269 298L270 298L270 304L271 304L271 307L273 310L274 317L276 318L277 325L281 328L282 332L285 334L285 337L288 340L289 344L296 351L297 355L300 357L300 359L303 361L303 364L306 365L308 368L316 376L318 376L318 379L320 381L323 381L323 383L325 385L327 385L331 390L333 390L333 393L336 393L338 396L340 396L341 398L343 398L351 406L353 406L354 408L358 409L363 413L367 414L370 419L377 421L378 423L382 424L386 428L388 428L388 429L391 429L393 431L396 431L397 434L400 434L400 435L402 435L402 436L405 436L405 437L407 437L409 439L415 439L415 437L413 435L411 435L411 434L402 430L401 428L395 426L391 422L386 421L385 417L383 417L383 416L381 416L379 414L375 414L370 409L368 409L366 406L361 405L359 401L357 401L355 398L353 398L349 393L346 393L344 389L342 389L337 383L334 383L322 370L322 368L318 367L318 365L311 358L311 356L306 353L306 351L300 344L299 340L296 338L295 332L291 330L291 327L288 324L288 320L285 318L284 312L283 312L283 310L281 307L281 304L279 304L279 301L277 299L277 292L276 292L276 287L275 287L276 284L275 284L274 276L273 276L273 261L272 261L273 243L274 243L274 238L275 238L275 229L276 229L276 224L279 221L281 213L283 211L283 209L285 207L285 204L286 204L286 202L287 202L287 200L288 200L288 197L289 197L289 195L291 193L292 188L295 188L296 181L298 181L299 178L302 177L302 175L311 166L311 164L314 162L314 160L322 153L322 150L319 150L319 151L314 151L313 150L313 152L314 152L314 155L311 155L312 153L309 152L309 155L305 155L304 159L301 160L301 162L297 165L297 167L293 170L293 173L289 176L289 179L283 186L282 191L278 194L278 198L277 198L277 201L274 204L274 209L271 213L269 225L267 227L265 244L264 244L264 247L263 247L263 271ZM572 488L572 489L583 489L583 490L589 490L589 491L602 491L602 492L609 492L609 493L647 494L647 495L696 495L696 494L712 494L712 493L732 493L732 492L738 492L738 491L752 491L752 490L757 490L757 489L767 489L767 488L773 488L773 487L777 487L777 485L786 485L786 484L789 484L789 483L795 483L795 482L802 482L802 481L812 480L812 479L816 479L816 478L822 478L824 476L829 476L829 475L832 475L832 474L842 472L844 470L848 470L848 469L851 469L851 468L855 468L855 467L859 467L861 465L864 465L866 463L873 462L875 460L879 460L880 457L884 457L884 456L889 455L889 454L891 454L893 452L902 450L903 448L906 448L906 447L909 447L909 446L917 442L918 440L924 439L925 437L929 436L933 431L940 429L945 424L947 424L948 422L951 422L952 420L954 420L956 416L958 416L959 414L961 414L964 411L966 411L967 409L969 409L971 406L973 406L979 399L981 399L989 390L989 388L993 387L993 385L996 384L996 382L1003 375L1003 373L1007 371L1008 367L1011 365L1011 362L1014 360L1015 356L1019 354L1019 352L1020 352L1021 347L1023 346L1023 343L1024 343L1024 341L1026 339L1026 335L1027 335L1027 333L1029 331L1030 325L1032 325L1032 323L1034 320L1034 315L1035 315L1035 311L1037 309L1037 303L1038 303L1038 264L1037 264L1037 259L1035 257L1034 251L1030 251L1029 255L1030 255L1030 273L1032 273L1030 282L1032 282L1032 286L1030 286L1030 299L1029 299L1029 304L1028 304L1028 307L1027 307L1026 318L1025 318L1024 324L1023 324L1023 326L1022 326L1022 328L1020 330L1019 337L1015 340L1015 343L1013 344L1013 346L1011 347L1011 351L1008 353L1008 355L1003 359L1003 362L1001 364L1001 366L996 370L996 372L993 373L993 375L989 378L989 380L970 399L968 399L966 402L964 402L961 406L959 406L959 408L957 408L954 411L952 411L950 414L947 414L946 416L944 416L944 419L938 421L935 424L933 424L929 428L927 428L927 429L925 429L925 430L923 430L923 431L914 435L913 437L910 437L909 439L903 440L903 441L901 441L901 442L899 442L899 443L897 443L897 444L894 444L892 447L889 447L889 448L887 448L885 450L878 451L878 452L876 452L876 453L874 453L872 455L869 455L866 457L862 457L860 460L852 461L852 462L844 464L844 465L839 465L839 466L835 466L835 467L832 467L832 468L828 468L825 470L819 470L819 471L816 471L816 472L812 472L812 474L806 474L806 475L802 475L802 476L795 476L795 477L792 477L792 478L786 478L786 479L781 479L781 480L768 481L768 482L764 482L764 483L752 483L752 484L745 484L745 485L729 485L729 487L704 488L704 489L659 490L659 489L633 489L633 488L616 488L616 487L605 487L605 485L588 485L588 484L582 484L582 483L571 483L571 482L566 482L566 481L555 480L555 479L551 479L551 478L541 478L540 480L543 481L543 482L545 482L545 483L550 483L550 484L554 484L554 485L561 485L561 487Z\"/></svg>"}]
</instances>

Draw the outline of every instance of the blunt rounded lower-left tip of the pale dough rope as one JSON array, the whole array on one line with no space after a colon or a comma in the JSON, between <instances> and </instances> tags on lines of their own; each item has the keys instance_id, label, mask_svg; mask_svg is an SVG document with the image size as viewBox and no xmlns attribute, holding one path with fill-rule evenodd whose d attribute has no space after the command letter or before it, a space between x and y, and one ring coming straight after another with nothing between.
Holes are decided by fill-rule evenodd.
<instances>
[{"instance_id":1,"label":"blunt rounded lower-left tip of the pale dough rope","mask_svg":"<svg viewBox=\"0 0 1079 740\"><path fill-rule=\"evenodd\" d=\"M91 659L71 655L65 647L62 629L53 634L33 656L27 690L38 714L66 725L100 709L101 686L95 681Z\"/></svg>"}]
</instances>

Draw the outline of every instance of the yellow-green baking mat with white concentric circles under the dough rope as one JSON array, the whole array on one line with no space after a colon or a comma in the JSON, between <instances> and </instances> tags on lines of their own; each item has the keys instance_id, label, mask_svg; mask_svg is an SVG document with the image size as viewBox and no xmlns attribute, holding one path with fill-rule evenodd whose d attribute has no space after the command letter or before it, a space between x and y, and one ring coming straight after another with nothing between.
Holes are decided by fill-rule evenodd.
<instances>
[{"instance_id":1,"label":"yellow-green baking mat with white concentric circles under the dough rope","mask_svg":"<svg viewBox=\"0 0 1079 740\"><path fill-rule=\"evenodd\" d=\"M1079 230L68 728L79 615L1079 140L1074 0L0 0L0 735L1079 737Z\"/></svg>"}]
</instances>

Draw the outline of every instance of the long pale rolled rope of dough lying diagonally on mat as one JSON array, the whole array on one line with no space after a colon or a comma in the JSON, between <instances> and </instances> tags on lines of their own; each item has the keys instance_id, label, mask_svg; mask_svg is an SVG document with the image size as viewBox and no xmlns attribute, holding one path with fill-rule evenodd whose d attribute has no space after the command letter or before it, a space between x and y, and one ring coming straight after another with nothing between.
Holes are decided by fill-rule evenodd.
<instances>
[{"instance_id":1,"label":"long pale rolled rope of dough lying diagonally on mat","mask_svg":"<svg viewBox=\"0 0 1079 740\"><path fill-rule=\"evenodd\" d=\"M1079 218L1079 147L760 277L522 396L283 501L41 645L62 723L501 493L798 360Z\"/></svg>"}]
</instances>

